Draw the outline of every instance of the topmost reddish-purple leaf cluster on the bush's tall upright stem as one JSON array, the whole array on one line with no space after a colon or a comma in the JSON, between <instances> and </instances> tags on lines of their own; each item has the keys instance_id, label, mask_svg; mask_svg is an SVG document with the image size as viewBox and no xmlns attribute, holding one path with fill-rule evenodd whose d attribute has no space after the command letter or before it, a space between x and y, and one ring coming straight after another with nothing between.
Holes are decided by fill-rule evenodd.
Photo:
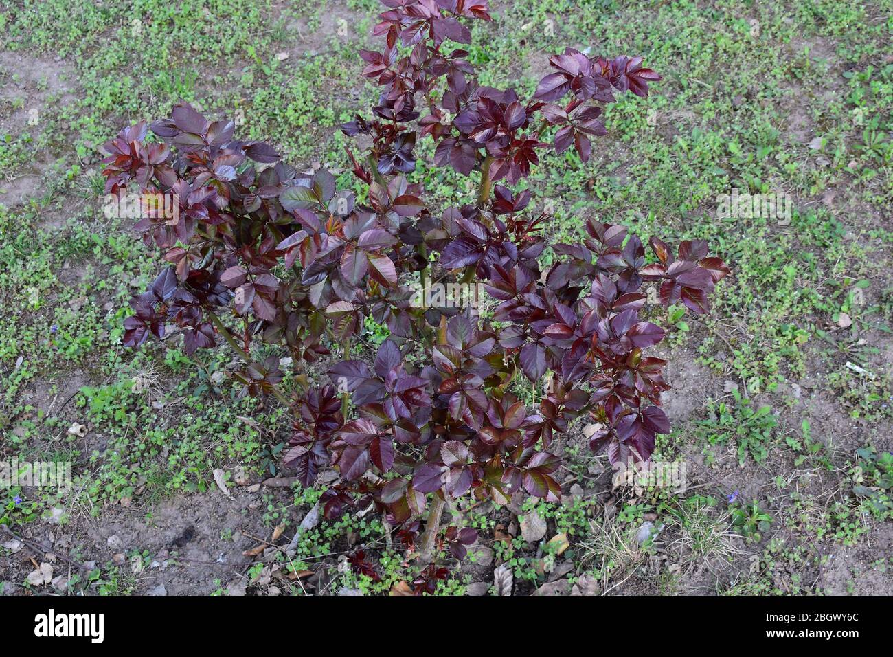
<instances>
[{"instance_id":1,"label":"topmost reddish-purple leaf cluster on the bush's tall upright stem","mask_svg":"<svg viewBox=\"0 0 893 657\"><path fill-rule=\"evenodd\" d=\"M647 97L648 82L661 79L642 67L641 57L609 61L567 48L549 60L555 72L540 80L536 94L522 102L513 89L479 86L467 50L443 48L447 39L471 43L471 32L458 19L490 20L486 2L473 6L443 0L385 4L392 10L381 14L375 29L376 34L387 35L384 50L360 52L366 62L363 76L377 80L381 87L380 103L372 112L384 121L367 122L357 116L344 126L348 135L362 131L372 137L371 154L380 173L413 171L416 133L405 131L400 123L416 121L421 115L416 110L417 97L429 112L418 121L420 136L430 135L438 144L435 164L448 164L468 175L483 153L490 179L505 178L514 184L538 164L537 150L548 146L542 139L551 126L560 126L552 137L555 150L563 153L573 145L586 162L590 138L606 134L598 120L602 108L596 104L613 103L614 90ZM399 46L413 47L401 56ZM556 105L568 95L566 104Z\"/></svg>"}]
</instances>

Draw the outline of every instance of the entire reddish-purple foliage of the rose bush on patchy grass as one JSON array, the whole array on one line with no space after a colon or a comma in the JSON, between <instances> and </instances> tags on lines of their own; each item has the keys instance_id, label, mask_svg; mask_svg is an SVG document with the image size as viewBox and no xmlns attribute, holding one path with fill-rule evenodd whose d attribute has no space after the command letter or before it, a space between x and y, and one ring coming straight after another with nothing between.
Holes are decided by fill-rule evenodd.
<instances>
[{"instance_id":1,"label":"entire reddish-purple foliage of the rose bush on patchy grass","mask_svg":"<svg viewBox=\"0 0 893 657\"><path fill-rule=\"evenodd\" d=\"M669 386L664 361L644 353L664 332L643 314L643 285L655 284L663 306L703 313L729 270L702 241L682 242L673 257L652 239L658 262L647 264L638 237L594 220L583 241L547 245L538 230L547 215L530 212L529 190L491 191L493 181L528 175L547 139L587 160L590 138L605 134L596 104L613 102L614 91L646 97L648 82L660 80L640 58L567 49L522 101L513 89L479 86L467 51L445 47L470 42L465 19L489 20L485 0L384 4L375 32L386 46L361 52L363 75L381 87L375 118L343 127L371 137L365 158L348 150L366 204L338 190L330 173L298 174L269 145L233 139L231 122L209 122L185 104L151 126L163 144L146 142L145 124L109 142L104 173L111 193L135 184L176 194L179 204L176 221L138 223L172 266L133 301L125 345L175 324L188 352L212 347L226 332L217 319L225 314L241 324L225 337L248 360L238 373L243 392L257 394L276 392L282 373L275 358L252 360L255 341L286 346L300 364L348 346L367 316L387 326L377 353L331 366L333 385L293 404L285 461L305 485L338 470L321 499L327 517L374 503L392 525L403 524L398 536L411 544L412 518L429 493L505 503L522 490L558 499L560 459L550 449L576 418L597 423L591 447L612 461L648 459L655 434L669 431L660 408ZM426 137L437 143L435 164L480 170L477 204L433 208L421 185L406 180ZM555 258L543 270L547 246ZM495 315L417 307L420 276L483 282L497 299ZM547 383L536 408L512 392L522 375ZM473 538L453 529L446 541L459 556ZM366 563L362 554L352 559L369 574ZM437 578L429 575L420 590Z\"/></svg>"}]
</instances>

